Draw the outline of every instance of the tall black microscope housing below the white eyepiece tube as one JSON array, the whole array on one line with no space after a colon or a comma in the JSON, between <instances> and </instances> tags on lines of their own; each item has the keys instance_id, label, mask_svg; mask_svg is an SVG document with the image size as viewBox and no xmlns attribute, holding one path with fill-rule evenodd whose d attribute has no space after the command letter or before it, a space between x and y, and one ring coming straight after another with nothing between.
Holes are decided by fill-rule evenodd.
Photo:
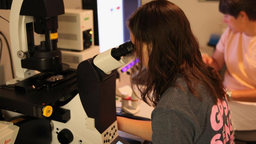
<instances>
[{"instance_id":1,"label":"tall black microscope housing below the white eyepiece tube","mask_svg":"<svg viewBox=\"0 0 256 144\"><path fill-rule=\"evenodd\" d=\"M78 65L77 77L84 110L95 119L95 128L102 133L116 121L116 72L105 74L91 58Z\"/></svg>"}]
</instances>

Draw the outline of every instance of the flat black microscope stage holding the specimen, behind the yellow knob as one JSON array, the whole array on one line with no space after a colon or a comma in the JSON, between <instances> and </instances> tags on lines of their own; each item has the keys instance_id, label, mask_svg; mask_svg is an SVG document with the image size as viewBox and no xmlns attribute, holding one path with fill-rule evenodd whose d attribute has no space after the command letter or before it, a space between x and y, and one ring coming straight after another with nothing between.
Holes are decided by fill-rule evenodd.
<instances>
[{"instance_id":1,"label":"flat black microscope stage holding the specimen, behind the yellow knob","mask_svg":"<svg viewBox=\"0 0 256 144\"><path fill-rule=\"evenodd\" d=\"M70 74L66 75L66 77L62 77L63 75L56 75L53 77L46 76L48 79L44 80L35 80L36 77L42 78L42 74L37 74L31 77L31 81L29 81L28 78L25 79L25 81L17 83L15 89L14 87L0 88L0 108L41 119L47 118L43 115L45 106L51 106L53 108L51 117L63 117L63 115L70 114L69 110L59 108L60 106L67 104L78 93L76 70L69 69L67 73ZM51 78L50 80L49 77ZM59 79L58 82L56 82L56 79ZM42 84L43 81L48 82L48 84ZM37 82L37 84L34 83L32 85L35 89L32 89L33 91L28 89L26 92L25 89L31 88L29 85L32 84L32 82ZM44 87L41 88L40 86L42 85ZM65 120L67 120L67 118L64 118L64 121Z\"/></svg>"}]
</instances>

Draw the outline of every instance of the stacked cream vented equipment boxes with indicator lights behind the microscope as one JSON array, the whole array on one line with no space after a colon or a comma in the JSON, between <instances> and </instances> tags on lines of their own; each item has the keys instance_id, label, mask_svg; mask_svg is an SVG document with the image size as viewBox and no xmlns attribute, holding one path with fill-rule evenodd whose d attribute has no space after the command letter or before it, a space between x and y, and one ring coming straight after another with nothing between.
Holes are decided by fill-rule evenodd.
<instances>
[{"instance_id":1,"label":"stacked cream vented equipment boxes with indicator lights behind the microscope","mask_svg":"<svg viewBox=\"0 0 256 144\"><path fill-rule=\"evenodd\" d=\"M58 16L58 48L62 62L76 69L78 64L100 53L94 45L92 10L65 9ZM35 35L35 44L44 41L44 35Z\"/></svg>"}]
</instances>

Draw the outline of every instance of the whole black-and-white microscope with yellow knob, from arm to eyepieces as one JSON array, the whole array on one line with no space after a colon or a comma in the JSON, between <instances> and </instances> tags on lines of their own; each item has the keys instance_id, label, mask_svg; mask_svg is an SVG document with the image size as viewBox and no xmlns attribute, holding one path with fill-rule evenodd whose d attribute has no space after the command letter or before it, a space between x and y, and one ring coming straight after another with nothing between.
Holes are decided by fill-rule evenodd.
<instances>
[{"instance_id":1,"label":"whole black-and-white microscope with yellow knob, from arm to eyepieces","mask_svg":"<svg viewBox=\"0 0 256 144\"><path fill-rule=\"evenodd\" d=\"M19 126L15 143L127 144L118 136L116 72L112 70L129 61L132 43L70 69L61 62L57 48L57 16L64 14L63 1L8 2L17 77L0 87L0 118L3 115L4 123ZM40 45L34 44L34 32L45 35Z\"/></svg>"}]
</instances>

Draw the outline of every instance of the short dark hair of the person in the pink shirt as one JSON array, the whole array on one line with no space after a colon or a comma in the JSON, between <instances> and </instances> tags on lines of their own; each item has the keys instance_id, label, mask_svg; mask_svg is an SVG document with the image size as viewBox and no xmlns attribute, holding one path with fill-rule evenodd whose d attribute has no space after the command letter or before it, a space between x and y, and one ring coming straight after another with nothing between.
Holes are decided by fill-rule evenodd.
<instances>
[{"instance_id":1,"label":"short dark hair of the person in the pink shirt","mask_svg":"<svg viewBox=\"0 0 256 144\"><path fill-rule=\"evenodd\" d=\"M249 20L256 20L256 0L220 0L219 10L235 18L244 11Z\"/></svg>"}]
</instances>

